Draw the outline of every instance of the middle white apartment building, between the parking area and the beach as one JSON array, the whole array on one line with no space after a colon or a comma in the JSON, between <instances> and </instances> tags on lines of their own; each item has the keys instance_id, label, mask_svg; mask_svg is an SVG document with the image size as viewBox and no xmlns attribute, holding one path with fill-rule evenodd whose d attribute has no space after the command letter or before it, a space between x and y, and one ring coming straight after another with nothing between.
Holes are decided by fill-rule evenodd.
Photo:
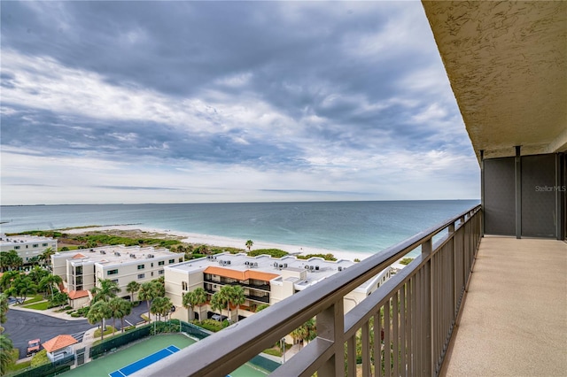
<instances>
[{"instance_id":1,"label":"middle white apartment building, between the parking area and the beach","mask_svg":"<svg viewBox=\"0 0 567 377\"><path fill-rule=\"evenodd\" d=\"M61 276L71 306L89 304L90 289L101 279L118 283L118 296L130 297L126 290L130 281L142 284L164 275L167 265L183 262L183 254L167 249L140 246L103 246L58 252L51 256L53 273Z\"/></svg>"}]
</instances>

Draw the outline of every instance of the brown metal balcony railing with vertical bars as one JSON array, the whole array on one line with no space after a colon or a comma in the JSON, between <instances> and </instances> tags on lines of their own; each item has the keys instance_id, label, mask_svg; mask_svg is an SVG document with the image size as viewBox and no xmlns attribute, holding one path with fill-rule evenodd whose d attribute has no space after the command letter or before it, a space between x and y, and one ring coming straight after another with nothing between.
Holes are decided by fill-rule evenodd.
<instances>
[{"instance_id":1,"label":"brown metal balcony railing with vertical bars","mask_svg":"<svg viewBox=\"0 0 567 377\"><path fill-rule=\"evenodd\" d=\"M477 254L481 216L480 206L462 212L136 375L224 376L314 317L315 340L271 375L355 376L357 343L363 376L437 375ZM419 247L408 266L344 314L346 294Z\"/></svg>"}]
</instances>

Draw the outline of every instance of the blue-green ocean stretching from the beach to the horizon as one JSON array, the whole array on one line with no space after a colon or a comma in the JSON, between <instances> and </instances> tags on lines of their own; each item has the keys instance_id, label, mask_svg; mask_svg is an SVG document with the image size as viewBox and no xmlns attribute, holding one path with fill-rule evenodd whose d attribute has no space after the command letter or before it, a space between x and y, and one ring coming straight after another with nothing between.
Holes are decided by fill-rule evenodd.
<instances>
[{"instance_id":1,"label":"blue-green ocean stretching from the beach to the horizon","mask_svg":"<svg viewBox=\"0 0 567 377\"><path fill-rule=\"evenodd\" d=\"M173 233L377 253L478 203L441 200L1 206L0 232L139 225Z\"/></svg>"}]
</instances>

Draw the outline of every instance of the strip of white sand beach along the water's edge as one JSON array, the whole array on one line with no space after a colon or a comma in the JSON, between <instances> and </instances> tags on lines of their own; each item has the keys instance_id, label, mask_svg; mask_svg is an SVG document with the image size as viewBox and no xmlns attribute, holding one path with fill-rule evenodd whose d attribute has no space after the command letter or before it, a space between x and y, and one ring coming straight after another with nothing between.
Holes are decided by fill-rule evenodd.
<instances>
[{"instance_id":1,"label":"strip of white sand beach along the water's edge","mask_svg":"<svg viewBox=\"0 0 567 377\"><path fill-rule=\"evenodd\" d=\"M182 242L206 244L209 246L218 246L218 247L224 246L224 247L245 249L246 248L245 243L247 241L245 239L229 238L229 237L223 237L221 235L201 235L197 233L188 233L188 232L179 232L179 231L174 232L167 229L140 227L137 225L119 225L119 226L110 226L110 227L82 227L76 229L68 229L65 232L68 234L77 234L77 233L87 233L87 232L96 232L96 231L105 231L105 230L136 230L136 229L143 232L183 237ZM252 242L253 242L253 246L251 250L279 249L279 250L287 251L290 254L302 254L302 255L330 253L333 254L337 259L346 259L346 260L354 260L355 258L362 260L364 258L369 258L372 255L370 253L363 253L356 251L318 249L314 247L288 245L288 244L276 243L276 242L260 242L254 240L252 240ZM399 265L398 263L395 263L392 266L396 268L403 267L403 265Z\"/></svg>"}]
</instances>

